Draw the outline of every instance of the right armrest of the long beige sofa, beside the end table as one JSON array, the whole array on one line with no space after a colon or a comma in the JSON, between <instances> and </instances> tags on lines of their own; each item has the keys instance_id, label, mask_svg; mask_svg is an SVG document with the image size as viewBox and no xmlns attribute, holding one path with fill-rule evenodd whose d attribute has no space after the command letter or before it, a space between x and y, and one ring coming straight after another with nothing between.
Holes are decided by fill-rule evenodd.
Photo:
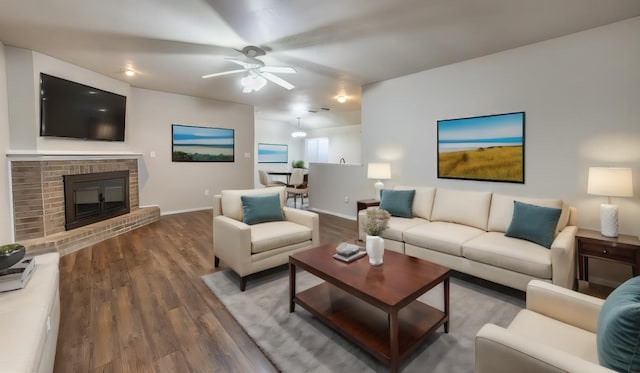
<instances>
[{"instance_id":1,"label":"right armrest of the long beige sofa, beside the end table","mask_svg":"<svg viewBox=\"0 0 640 373\"><path fill-rule=\"evenodd\" d=\"M551 271L553 283L571 289L576 281L576 233L578 227L569 225L551 244Z\"/></svg>"}]
</instances>

